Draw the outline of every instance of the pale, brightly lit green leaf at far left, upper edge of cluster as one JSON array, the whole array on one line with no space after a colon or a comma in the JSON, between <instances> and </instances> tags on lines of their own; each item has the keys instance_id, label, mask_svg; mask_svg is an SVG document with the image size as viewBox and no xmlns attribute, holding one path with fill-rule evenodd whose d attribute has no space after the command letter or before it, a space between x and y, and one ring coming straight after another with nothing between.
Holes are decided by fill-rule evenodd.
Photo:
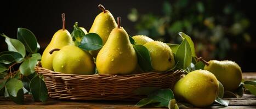
<instances>
[{"instance_id":1,"label":"pale, brightly lit green leaf at far left, upper edge of cluster","mask_svg":"<svg viewBox=\"0 0 256 109\"><path fill-rule=\"evenodd\" d=\"M26 54L25 46L19 40L9 38L4 34L1 34L1 35L5 37L5 43L8 45L9 51L18 52L21 54L22 57L25 57L25 54Z\"/></svg>"}]
</instances>

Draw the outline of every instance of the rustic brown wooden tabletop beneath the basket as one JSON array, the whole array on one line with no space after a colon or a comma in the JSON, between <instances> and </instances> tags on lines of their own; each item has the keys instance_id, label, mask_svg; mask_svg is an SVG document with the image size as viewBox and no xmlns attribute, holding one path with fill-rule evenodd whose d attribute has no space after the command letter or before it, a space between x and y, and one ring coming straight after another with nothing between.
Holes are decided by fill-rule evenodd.
<instances>
[{"instance_id":1,"label":"rustic brown wooden tabletop beneath the basket","mask_svg":"<svg viewBox=\"0 0 256 109\"><path fill-rule=\"evenodd\" d=\"M256 79L256 72L243 73L244 80ZM244 94L241 98L229 98L230 106L211 106L209 108L256 108L256 96ZM60 101L49 99L45 102L32 101L31 95L25 95L25 105L17 105L9 98L0 97L0 108L138 108L132 101ZM155 107L143 107L155 108Z\"/></svg>"}]
</instances>

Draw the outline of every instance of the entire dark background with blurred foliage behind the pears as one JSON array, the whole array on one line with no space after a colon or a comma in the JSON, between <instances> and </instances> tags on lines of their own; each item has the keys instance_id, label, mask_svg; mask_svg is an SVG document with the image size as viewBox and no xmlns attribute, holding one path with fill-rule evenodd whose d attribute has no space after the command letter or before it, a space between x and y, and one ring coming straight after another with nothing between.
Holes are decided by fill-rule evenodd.
<instances>
[{"instance_id":1,"label":"entire dark background with blurred foliage behind the pears","mask_svg":"<svg viewBox=\"0 0 256 109\"><path fill-rule=\"evenodd\" d=\"M53 34L61 29L61 14L66 14L66 28L73 25L89 31L98 4L122 17L127 33L148 35L166 43L180 44L178 32L190 35L197 56L206 60L234 60L243 71L256 71L254 1L242 0L94 0L94 1L0 1L0 33L16 38L18 27L30 29L41 45L42 53ZM7 50L0 37L0 52Z\"/></svg>"}]
</instances>

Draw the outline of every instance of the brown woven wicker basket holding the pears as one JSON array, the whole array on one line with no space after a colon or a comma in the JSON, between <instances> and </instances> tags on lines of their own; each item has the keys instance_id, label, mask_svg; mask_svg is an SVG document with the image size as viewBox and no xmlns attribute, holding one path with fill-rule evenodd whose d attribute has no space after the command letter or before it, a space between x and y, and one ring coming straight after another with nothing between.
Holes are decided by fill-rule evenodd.
<instances>
[{"instance_id":1,"label":"brown woven wicker basket holding the pears","mask_svg":"<svg viewBox=\"0 0 256 109\"><path fill-rule=\"evenodd\" d=\"M36 67L42 74L50 98L68 100L126 100L138 101L146 97L134 91L140 87L173 88L185 72L146 72L132 75L75 75Z\"/></svg>"}]
</instances>

